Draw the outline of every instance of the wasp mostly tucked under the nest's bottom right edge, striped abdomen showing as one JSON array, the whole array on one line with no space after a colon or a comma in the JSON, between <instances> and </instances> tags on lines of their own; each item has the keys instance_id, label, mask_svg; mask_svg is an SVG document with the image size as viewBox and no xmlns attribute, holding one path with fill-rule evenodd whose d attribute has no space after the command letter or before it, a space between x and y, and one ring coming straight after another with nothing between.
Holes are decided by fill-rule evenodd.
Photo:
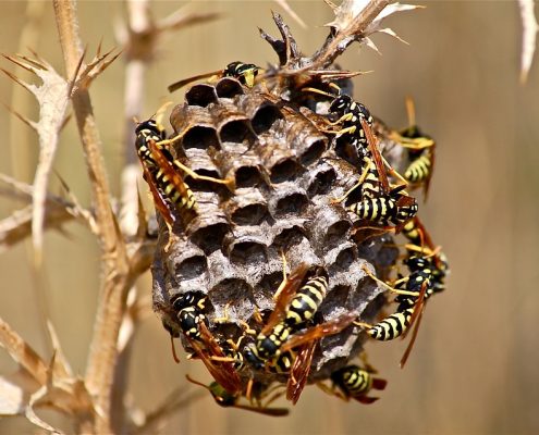
<instances>
[{"instance_id":1,"label":"wasp mostly tucked under the nest's bottom right edge, striped abdomen showing","mask_svg":"<svg viewBox=\"0 0 539 435\"><path fill-rule=\"evenodd\" d=\"M373 377L370 371L355 364L346 365L331 373L331 381L333 382L333 390L338 387L341 391L341 395L338 395L339 397L344 400L352 398L365 405L372 403L379 399L378 397L367 396L370 390L383 390L388 384L385 380Z\"/></svg>"}]
</instances>

